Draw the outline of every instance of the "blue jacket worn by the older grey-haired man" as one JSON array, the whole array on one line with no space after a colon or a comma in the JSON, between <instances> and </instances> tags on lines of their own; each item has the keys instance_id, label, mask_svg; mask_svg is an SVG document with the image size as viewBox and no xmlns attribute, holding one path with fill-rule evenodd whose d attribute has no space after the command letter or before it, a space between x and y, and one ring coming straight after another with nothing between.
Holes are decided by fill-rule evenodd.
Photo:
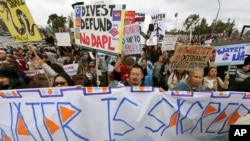
<instances>
[{"instance_id":1,"label":"blue jacket worn by the older grey-haired man","mask_svg":"<svg viewBox=\"0 0 250 141\"><path fill-rule=\"evenodd\" d=\"M197 91L197 92L203 92L202 84L198 86L197 90L192 90L190 83L188 81L188 78L185 80L179 82L176 86L174 86L171 90L179 90L179 91Z\"/></svg>"}]
</instances>

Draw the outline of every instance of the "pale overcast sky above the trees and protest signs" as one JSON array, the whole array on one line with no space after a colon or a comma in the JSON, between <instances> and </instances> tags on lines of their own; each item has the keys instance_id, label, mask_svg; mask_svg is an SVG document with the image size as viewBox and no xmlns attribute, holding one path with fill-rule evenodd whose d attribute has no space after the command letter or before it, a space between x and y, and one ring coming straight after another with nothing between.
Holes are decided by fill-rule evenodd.
<instances>
[{"instance_id":1,"label":"pale overcast sky above the trees and protest signs","mask_svg":"<svg viewBox=\"0 0 250 141\"><path fill-rule=\"evenodd\" d=\"M79 0L25 0L35 23L46 26L48 16L52 13L67 17L72 12L71 4ZM93 4L98 0L84 0L85 4ZM150 15L166 14L166 29L181 29L183 21L190 14L199 14L210 24L215 19L221 3L218 20L226 22L228 18L236 21L241 31L243 25L250 25L250 0L104 0L105 3L126 4L127 10L146 13L147 22ZM177 22L174 17L178 13ZM147 24L146 22L146 24Z\"/></svg>"}]
</instances>

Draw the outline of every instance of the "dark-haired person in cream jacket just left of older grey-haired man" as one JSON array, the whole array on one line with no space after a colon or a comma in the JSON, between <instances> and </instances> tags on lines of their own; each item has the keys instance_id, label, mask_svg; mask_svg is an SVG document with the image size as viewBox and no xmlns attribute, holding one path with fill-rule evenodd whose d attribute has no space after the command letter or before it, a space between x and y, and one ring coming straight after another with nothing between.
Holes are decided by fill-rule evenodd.
<instances>
[{"instance_id":1,"label":"dark-haired person in cream jacket just left of older grey-haired man","mask_svg":"<svg viewBox=\"0 0 250 141\"><path fill-rule=\"evenodd\" d=\"M171 90L177 83L185 80L188 77L188 72L182 69L176 69L168 77L168 90Z\"/></svg>"}]
</instances>

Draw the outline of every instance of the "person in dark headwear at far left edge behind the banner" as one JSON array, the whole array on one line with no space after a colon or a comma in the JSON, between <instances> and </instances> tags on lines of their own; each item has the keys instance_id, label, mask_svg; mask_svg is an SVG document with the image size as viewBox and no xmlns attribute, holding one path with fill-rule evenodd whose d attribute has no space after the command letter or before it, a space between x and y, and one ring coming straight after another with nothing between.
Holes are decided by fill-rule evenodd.
<instances>
[{"instance_id":1,"label":"person in dark headwear at far left edge behind the banner","mask_svg":"<svg viewBox=\"0 0 250 141\"><path fill-rule=\"evenodd\" d=\"M25 82L21 81L18 73L12 68L0 69L0 90L28 88Z\"/></svg>"}]
</instances>

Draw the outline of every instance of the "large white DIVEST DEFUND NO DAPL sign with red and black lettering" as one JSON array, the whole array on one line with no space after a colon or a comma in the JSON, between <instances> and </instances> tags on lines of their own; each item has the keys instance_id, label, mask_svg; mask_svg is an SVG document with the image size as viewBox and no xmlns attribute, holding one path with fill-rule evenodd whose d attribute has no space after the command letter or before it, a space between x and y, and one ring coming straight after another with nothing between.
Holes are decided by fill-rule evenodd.
<instances>
[{"instance_id":1,"label":"large white DIVEST DEFUND NO DAPL sign with red and black lettering","mask_svg":"<svg viewBox=\"0 0 250 141\"><path fill-rule=\"evenodd\" d=\"M76 5L74 9L77 45L121 54L125 5Z\"/></svg>"}]
</instances>

